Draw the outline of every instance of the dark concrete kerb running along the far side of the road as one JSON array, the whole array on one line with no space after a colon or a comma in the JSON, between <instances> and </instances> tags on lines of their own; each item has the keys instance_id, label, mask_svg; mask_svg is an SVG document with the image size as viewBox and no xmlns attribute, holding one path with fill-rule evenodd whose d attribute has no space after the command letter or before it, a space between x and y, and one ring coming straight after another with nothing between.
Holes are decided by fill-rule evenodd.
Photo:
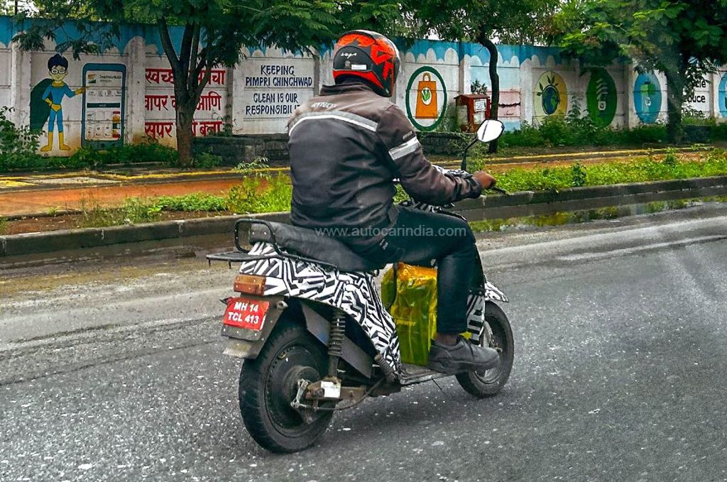
<instances>
[{"instance_id":1,"label":"dark concrete kerb running along the far side of the road","mask_svg":"<svg viewBox=\"0 0 727 482\"><path fill-rule=\"evenodd\" d=\"M727 195L727 176L571 188L559 192L524 192L513 193L509 196L488 196L458 203L457 212L464 214L468 220L477 221L723 195ZM131 246L140 241L182 240L210 234L229 233L231 236L236 220L241 217L287 222L289 213L207 217L110 228L57 230L46 233L0 236L0 257L17 257L24 254L58 252L113 244Z\"/></svg>"}]
</instances>

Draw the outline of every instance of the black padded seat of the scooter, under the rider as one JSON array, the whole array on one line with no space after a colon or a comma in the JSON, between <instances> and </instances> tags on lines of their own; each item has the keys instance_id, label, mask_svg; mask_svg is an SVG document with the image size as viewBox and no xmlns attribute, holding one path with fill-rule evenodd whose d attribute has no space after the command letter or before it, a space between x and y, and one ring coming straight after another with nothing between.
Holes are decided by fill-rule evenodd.
<instances>
[{"instance_id":1,"label":"black padded seat of the scooter, under the rider","mask_svg":"<svg viewBox=\"0 0 727 482\"><path fill-rule=\"evenodd\" d=\"M270 233L272 228L273 233ZM375 262L353 252L337 239L323 236L315 230L300 228L282 222L255 223L250 226L250 243L275 243L280 249L292 254L334 265L341 271L373 271L384 268L385 263Z\"/></svg>"}]
</instances>

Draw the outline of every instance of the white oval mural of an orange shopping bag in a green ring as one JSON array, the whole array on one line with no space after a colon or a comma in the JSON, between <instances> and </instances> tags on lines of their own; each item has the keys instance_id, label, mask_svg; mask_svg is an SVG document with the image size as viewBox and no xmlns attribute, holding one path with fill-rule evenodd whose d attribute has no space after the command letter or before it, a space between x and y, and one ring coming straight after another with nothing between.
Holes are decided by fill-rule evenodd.
<instances>
[{"instance_id":1,"label":"white oval mural of an orange shopping bag in a green ring","mask_svg":"<svg viewBox=\"0 0 727 482\"><path fill-rule=\"evenodd\" d=\"M432 131L442 121L447 105L444 79L426 65L414 71L406 85L406 115L420 131Z\"/></svg>"}]
</instances>

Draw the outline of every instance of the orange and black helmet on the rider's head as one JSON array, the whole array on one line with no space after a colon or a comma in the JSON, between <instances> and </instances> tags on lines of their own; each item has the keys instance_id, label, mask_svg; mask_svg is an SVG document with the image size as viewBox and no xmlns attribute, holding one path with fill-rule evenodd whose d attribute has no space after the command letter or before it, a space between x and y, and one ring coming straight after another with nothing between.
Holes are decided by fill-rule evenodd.
<instances>
[{"instance_id":1,"label":"orange and black helmet on the rider's head","mask_svg":"<svg viewBox=\"0 0 727 482\"><path fill-rule=\"evenodd\" d=\"M354 30L344 33L336 42L333 79L337 84L347 77L364 79L377 94L391 97L400 64L393 41L380 33Z\"/></svg>"}]
</instances>

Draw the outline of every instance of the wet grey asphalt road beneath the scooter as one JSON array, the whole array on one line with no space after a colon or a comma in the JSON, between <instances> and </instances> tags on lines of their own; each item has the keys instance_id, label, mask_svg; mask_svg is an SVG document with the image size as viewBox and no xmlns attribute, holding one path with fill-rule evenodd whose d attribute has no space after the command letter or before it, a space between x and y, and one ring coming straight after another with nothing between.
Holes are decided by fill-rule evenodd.
<instances>
[{"instance_id":1,"label":"wet grey asphalt road beneath the scooter","mask_svg":"<svg viewBox=\"0 0 727 482\"><path fill-rule=\"evenodd\" d=\"M241 423L218 336L226 265L10 274L0 480L727 480L726 228L704 206L482 238L512 300L505 390L411 387L285 456Z\"/></svg>"}]
</instances>

